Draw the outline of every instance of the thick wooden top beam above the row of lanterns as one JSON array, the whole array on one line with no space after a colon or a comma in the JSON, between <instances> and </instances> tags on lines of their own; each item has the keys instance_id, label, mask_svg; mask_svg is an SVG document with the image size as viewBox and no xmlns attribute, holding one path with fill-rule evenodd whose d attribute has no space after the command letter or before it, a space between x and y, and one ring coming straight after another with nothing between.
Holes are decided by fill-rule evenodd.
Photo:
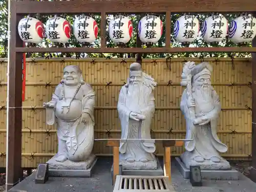
<instances>
[{"instance_id":1,"label":"thick wooden top beam above the row of lanterns","mask_svg":"<svg viewBox=\"0 0 256 192\"><path fill-rule=\"evenodd\" d=\"M255 0L83 0L83 1L20 1L15 2L16 12L43 13L99 13L99 12L252 12Z\"/></svg>"}]
</instances>

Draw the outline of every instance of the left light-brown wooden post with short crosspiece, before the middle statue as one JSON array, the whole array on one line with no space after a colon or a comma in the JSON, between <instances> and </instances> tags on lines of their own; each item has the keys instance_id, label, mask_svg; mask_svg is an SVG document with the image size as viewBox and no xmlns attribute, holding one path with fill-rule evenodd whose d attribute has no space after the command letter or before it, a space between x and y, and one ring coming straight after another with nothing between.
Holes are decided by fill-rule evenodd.
<instances>
[{"instance_id":1,"label":"left light-brown wooden post with short crosspiece, before the middle statue","mask_svg":"<svg viewBox=\"0 0 256 192\"><path fill-rule=\"evenodd\" d=\"M116 176L119 174L119 141L108 141L108 146L113 146L113 183L116 182Z\"/></svg>"}]
</instances>

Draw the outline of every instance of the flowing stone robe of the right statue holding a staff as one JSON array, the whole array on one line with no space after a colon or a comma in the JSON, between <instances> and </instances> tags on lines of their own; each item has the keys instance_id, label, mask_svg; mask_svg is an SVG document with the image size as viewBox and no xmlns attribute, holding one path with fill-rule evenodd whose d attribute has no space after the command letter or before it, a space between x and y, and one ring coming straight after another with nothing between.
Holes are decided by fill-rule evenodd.
<instances>
[{"instance_id":1,"label":"flowing stone robe of the right statue holding a staff","mask_svg":"<svg viewBox=\"0 0 256 192\"><path fill-rule=\"evenodd\" d=\"M211 157L222 159L219 152L226 152L227 146L217 136L217 119L221 111L219 96L212 89L210 101L205 102L197 95L194 95L193 98L196 104L196 118L206 115L210 117L210 122L205 125L194 125L194 119L189 116L186 102L187 90L185 89L182 94L180 108L186 120L186 139L193 140L185 142L186 152L181 155L182 161L191 161L197 156L201 156L205 160L210 160Z\"/></svg>"}]
</instances>

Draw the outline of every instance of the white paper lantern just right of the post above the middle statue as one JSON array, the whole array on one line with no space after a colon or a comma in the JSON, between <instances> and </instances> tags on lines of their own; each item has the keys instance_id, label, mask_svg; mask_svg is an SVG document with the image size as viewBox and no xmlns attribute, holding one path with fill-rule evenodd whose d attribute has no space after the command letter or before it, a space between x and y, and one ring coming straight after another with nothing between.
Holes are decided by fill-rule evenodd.
<instances>
[{"instance_id":1,"label":"white paper lantern just right of the post above the middle statue","mask_svg":"<svg viewBox=\"0 0 256 192\"><path fill-rule=\"evenodd\" d=\"M138 35L144 44L156 44L163 34L163 24L160 17L144 16L138 25Z\"/></svg>"}]
</instances>

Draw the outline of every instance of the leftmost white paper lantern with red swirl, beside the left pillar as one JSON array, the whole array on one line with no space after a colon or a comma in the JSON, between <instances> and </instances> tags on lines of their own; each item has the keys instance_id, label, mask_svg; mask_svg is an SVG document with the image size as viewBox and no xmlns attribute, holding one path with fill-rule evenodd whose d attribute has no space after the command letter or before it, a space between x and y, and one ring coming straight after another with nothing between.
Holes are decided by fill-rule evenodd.
<instances>
[{"instance_id":1,"label":"leftmost white paper lantern with red swirl, beside the left pillar","mask_svg":"<svg viewBox=\"0 0 256 192\"><path fill-rule=\"evenodd\" d=\"M26 43L40 44L45 36L45 27L40 20L26 17L18 23L18 34Z\"/></svg>"}]
</instances>

